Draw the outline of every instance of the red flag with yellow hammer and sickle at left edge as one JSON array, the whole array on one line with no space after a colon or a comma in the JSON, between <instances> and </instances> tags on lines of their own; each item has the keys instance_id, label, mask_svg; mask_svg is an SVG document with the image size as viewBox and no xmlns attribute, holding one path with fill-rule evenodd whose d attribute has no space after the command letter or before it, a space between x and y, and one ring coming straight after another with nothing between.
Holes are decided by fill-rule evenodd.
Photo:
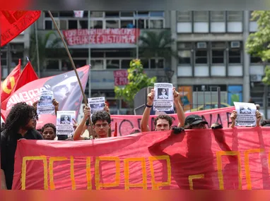
<instances>
[{"instance_id":1,"label":"red flag with yellow hammer and sickle at left edge","mask_svg":"<svg viewBox=\"0 0 270 201\"><path fill-rule=\"evenodd\" d=\"M6 77L6 80L1 84L1 102L4 102L5 99L7 99L15 87L18 78L20 76L20 60L18 63L18 66L16 66L11 73L9 73L8 77Z\"/></svg>"}]
</instances>

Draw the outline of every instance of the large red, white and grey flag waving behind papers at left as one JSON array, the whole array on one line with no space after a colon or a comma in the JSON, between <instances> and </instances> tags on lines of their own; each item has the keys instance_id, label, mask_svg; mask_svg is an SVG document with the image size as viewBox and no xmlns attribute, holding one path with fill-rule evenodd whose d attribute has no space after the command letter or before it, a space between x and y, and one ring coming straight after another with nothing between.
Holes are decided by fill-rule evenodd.
<instances>
[{"instance_id":1,"label":"large red, white and grey flag waving behind papers at left","mask_svg":"<svg viewBox=\"0 0 270 201\"><path fill-rule=\"evenodd\" d=\"M79 78L83 85L83 90L86 89L88 81L89 66L77 68ZM81 89L78 85L78 79L74 71L62 73L48 78L35 80L31 83L20 87L11 95L6 104L6 111L1 109L1 113L6 117L11 109L11 106L18 102L26 102L32 105L40 99L40 92L42 90L51 90L54 92L54 98L59 102L59 110L76 111L80 109L82 101ZM56 123L56 116L52 114L42 114L37 121L37 129L42 128L45 123Z\"/></svg>"}]
</instances>

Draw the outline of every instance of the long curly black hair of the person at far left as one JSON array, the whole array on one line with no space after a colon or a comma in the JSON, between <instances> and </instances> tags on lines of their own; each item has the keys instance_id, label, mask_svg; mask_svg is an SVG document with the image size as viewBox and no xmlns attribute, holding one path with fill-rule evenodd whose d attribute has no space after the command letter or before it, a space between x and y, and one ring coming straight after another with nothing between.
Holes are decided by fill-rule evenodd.
<instances>
[{"instance_id":1,"label":"long curly black hair of the person at far left","mask_svg":"<svg viewBox=\"0 0 270 201\"><path fill-rule=\"evenodd\" d=\"M21 127L26 126L31 118L37 119L37 111L25 102L14 104L6 117L6 133L16 134Z\"/></svg>"}]
</instances>

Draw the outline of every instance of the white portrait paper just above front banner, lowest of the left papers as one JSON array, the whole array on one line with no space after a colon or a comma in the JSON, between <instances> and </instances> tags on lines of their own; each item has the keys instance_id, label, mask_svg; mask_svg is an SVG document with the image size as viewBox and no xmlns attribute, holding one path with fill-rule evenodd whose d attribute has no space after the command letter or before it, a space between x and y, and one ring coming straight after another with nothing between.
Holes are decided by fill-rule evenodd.
<instances>
[{"instance_id":1,"label":"white portrait paper just above front banner, lowest of the left papers","mask_svg":"<svg viewBox=\"0 0 270 201\"><path fill-rule=\"evenodd\" d=\"M76 111L57 111L57 135L73 135Z\"/></svg>"}]
</instances>

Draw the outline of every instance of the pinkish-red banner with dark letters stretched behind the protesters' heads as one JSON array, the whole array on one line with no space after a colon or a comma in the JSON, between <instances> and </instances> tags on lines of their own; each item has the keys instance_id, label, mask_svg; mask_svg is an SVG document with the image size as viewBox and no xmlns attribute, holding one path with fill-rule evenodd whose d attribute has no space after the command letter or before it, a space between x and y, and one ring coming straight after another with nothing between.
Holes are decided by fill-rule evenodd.
<instances>
[{"instance_id":1,"label":"pinkish-red banner with dark letters stretched behind the protesters' heads","mask_svg":"<svg viewBox=\"0 0 270 201\"><path fill-rule=\"evenodd\" d=\"M205 121L209 123L208 127L211 128L211 124L218 122L221 123L223 128L230 127L230 114L235 109L235 106L230 106L221 109L209 109L204 111L192 111L187 112L184 115L189 116L190 114L197 114L201 116ZM172 116L172 126L178 125L177 114L168 114ZM129 135L132 128L140 128L141 115L111 115L112 118L112 132L115 131L115 123L117 123L117 135ZM154 118L156 115L151 115L149 118L149 128L155 130Z\"/></svg>"}]
</instances>

